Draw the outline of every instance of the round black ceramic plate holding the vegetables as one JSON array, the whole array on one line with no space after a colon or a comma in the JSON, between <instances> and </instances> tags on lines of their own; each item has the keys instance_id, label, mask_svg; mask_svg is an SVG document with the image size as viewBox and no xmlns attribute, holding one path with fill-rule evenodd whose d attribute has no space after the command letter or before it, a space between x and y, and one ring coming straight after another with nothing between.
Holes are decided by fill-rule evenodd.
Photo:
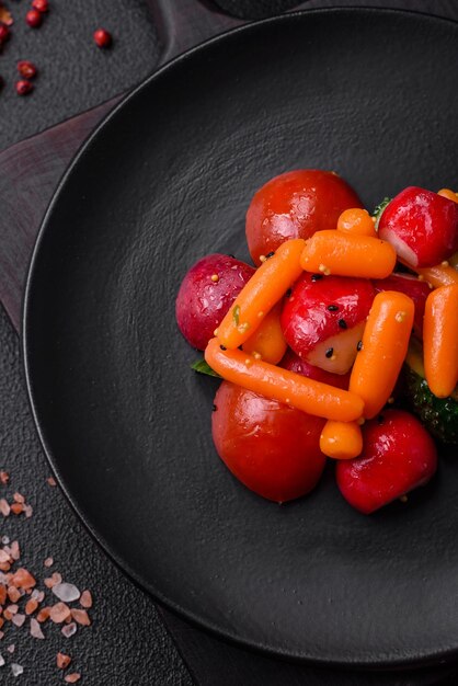
<instances>
[{"instance_id":1,"label":"round black ceramic plate holding the vegetables","mask_svg":"<svg viewBox=\"0 0 458 686\"><path fill-rule=\"evenodd\" d=\"M49 459L110 554L156 598L277 655L394 665L458 649L458 464L374 516L332 469L287 506L210 438L216 385L174 321L187 267L245 258L268 178L343 174L371 207L457 186L458 26L337 10L234 31L149 79L64 179L28 277L25 366Z\"/></svg>"}]
</instances>

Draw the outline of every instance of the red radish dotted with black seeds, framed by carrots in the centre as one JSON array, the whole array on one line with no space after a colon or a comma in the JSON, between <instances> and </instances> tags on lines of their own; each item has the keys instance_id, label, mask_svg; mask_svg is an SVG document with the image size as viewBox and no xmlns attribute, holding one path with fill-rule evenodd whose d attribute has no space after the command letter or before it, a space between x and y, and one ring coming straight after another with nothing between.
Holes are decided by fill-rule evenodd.
<instances>
[{"instance_id":1,"label":"red radish dotted with black seeds, framed by carrots in the centre","mask_svg":"<svg viewBox=\"0 0 458 686\"><path fill-rule=\"evenodd\" d=\"M346 374L375 296L365 278L304 273L282 312L286 342L316 367Z\"/></svg>"}]
</instances>

